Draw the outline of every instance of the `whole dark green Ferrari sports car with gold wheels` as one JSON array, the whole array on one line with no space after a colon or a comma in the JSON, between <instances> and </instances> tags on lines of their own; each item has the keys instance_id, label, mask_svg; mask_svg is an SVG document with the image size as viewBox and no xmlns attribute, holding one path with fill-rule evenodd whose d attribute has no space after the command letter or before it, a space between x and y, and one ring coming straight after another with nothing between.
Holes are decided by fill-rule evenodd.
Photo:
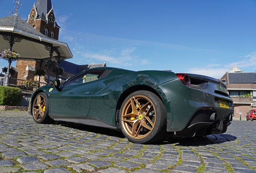
<instances>
[{"instance_id":1,"label":"whole dark green Ferrari sports car with gold wheels","mask_svg":"<svg viewBox=\"0 0 256 173\"><path fill-rule=\"evenodd\" d=\"M220 80L171 70L97 67L63 84L37 89L29 101L36 123L52 120L121 130L134 143L169 136L225 133L233 101Z\"/></svg>"}]
</instances>

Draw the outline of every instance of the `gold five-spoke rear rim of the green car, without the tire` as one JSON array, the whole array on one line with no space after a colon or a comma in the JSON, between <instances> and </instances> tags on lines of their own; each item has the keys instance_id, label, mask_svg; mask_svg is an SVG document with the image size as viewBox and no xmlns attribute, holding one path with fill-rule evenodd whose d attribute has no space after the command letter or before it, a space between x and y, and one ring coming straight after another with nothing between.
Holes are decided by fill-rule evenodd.
<instances>
[{"instance_id":1,"label":"gold five-spoke rear rim of the green car, without the tire","mask_svg":"<svg viewBox=\"0 0 256 173\"><path fill-rule=\"evenodd\" d=\"M155 127L156 112L151 100L142 95L130 98L122 109L122 126L134 139L147 137Z\"/></svg>"}]
</instances>

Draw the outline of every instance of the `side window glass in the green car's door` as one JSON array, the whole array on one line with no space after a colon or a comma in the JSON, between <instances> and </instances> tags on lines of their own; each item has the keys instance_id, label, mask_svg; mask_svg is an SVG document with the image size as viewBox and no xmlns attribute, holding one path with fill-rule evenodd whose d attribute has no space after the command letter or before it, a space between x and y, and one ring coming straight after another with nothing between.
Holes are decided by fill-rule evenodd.
<instances>
[{"instance_id":1,"label":"side window glass in the green car's door","mask_svg":"<svg viewBox=\"0 0 256 173\"><path fill-rule=\"evenodd\" d=\"M104 70L92 70L92 71L83 72L77 76L74 76L74 78L71 78L70 80L68 80L65 86L82 84L82 83L98 80L103 72Z\"/></svg>"}]
</instances>

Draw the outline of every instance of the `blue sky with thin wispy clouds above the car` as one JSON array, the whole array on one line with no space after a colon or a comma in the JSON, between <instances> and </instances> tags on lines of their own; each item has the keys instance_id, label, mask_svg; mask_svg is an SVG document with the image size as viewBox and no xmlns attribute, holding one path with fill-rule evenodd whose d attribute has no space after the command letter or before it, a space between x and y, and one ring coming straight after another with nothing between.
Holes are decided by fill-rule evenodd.
<instances>
[{"instance_id":1,"label":"blue sky with thin wispy clouds above the car","mask_svg":"<svg viewBox=\"0 0 256 173\"><path fill-rule=\"evenodd\" d=\"M26 20L36 0L21 0ZM75 64L221 78L256 71L256 0L52 0ZM0 0L0 17L14 9ZM4 48L0 48L1 50ZM7 61L0 59L0 69ZM12 62L15 66L15 62Z\"/></svg>"}]
</instances>

